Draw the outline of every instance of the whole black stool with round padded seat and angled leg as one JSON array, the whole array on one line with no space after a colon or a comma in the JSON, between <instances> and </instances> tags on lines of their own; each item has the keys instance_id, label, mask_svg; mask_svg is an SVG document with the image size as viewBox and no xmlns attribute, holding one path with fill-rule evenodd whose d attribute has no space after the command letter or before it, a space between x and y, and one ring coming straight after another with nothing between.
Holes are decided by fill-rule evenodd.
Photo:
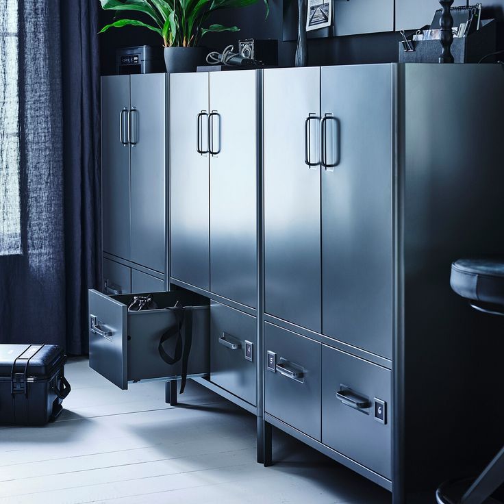
<instances>
[{"instance_id":1,"label":"whole black stool with round padded seat and angled leg","mask_svg":"<svg viewBox=\"0 0 504 504\"><path fill-rule=\"evenodd\" d=\"M476 310L504 316L504 257L455 261L451 265L450 284ZM504 447L472 484L471 481L466 480L468 488L456 501L447 492L456 486L464 489L464 480L443 483L436 491L438 504L501 504L491 496L504 483Z\"/></svg>"}]
</instances>

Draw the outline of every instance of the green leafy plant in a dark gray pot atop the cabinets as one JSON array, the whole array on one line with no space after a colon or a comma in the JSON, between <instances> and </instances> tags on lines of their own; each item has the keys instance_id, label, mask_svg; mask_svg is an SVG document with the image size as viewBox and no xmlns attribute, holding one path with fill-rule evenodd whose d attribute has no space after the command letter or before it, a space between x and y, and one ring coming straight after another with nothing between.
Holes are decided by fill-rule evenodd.
<instances>
[{"instance_id":1,"label":"green leafy plant in a dark gray pot atop the cabinets","mask_svg":"<svg viewBox=\"0 0 504 504\"><path fill-rule=\"evenodd\" d=\"M212 24L206 26L209 16L216 10L247 7L258 0L100 0L106 10L129 10L141 12L153 23L136 19L118 19L104 26L100 33L109 28L140 26L155 31L162 37L166 71L191 72L205 62L207 49L200 47L201 38L209 31L239 31L236 26L225 27ZM266 17L269 12L268 0Z\"/></svg>"}]
</instances>

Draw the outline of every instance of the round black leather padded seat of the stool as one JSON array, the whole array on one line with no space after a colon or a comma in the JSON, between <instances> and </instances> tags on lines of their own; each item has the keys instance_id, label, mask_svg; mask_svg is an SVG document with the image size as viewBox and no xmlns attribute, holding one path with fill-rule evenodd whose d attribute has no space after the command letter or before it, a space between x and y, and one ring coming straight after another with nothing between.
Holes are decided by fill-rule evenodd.
<instances>
[{"instance_id":1,"label":"round black leather padded seat of the stool","mask_svg":"<svg viewBox=\"0 0 504 504\"><path fill-rule=\"evenodd\" d=\"M451 288L470 301L504 308L504 257L459 259L451 265Z\"/></svg>"}]
</instances>

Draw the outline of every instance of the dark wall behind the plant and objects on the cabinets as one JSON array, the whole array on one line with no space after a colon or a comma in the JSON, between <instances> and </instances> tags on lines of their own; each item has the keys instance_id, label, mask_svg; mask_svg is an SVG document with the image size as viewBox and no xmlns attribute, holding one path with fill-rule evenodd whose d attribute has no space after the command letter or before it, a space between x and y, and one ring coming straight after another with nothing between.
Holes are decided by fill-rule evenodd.
<instances>
[{"instance_id":1,"label":"dark wall behind the plant and objects on the cabinets","mask_svg":"<svg viewBox=\"0 0 504 504\"><path fill-rule=\"evenodd\" d=\"M96 0L98 1L98 0ZM399 1L399 0L396 0ZM417 0L422 2L424 0ZM203 38L207 47L222 49L234 44L237 48L240 38L276 38L279 40L279 64L293 66L295 42L282 42L283 0L270 0L270 14L264 19L264 4L260 0L251 7L235 10L224 10L218 13L215 22L223 25L238 25L241 31L237 33L208 34ZM475 3L475 2L471 2ZM483 2L486 7L487 18L495 17L498 24L498 49L504 49L503 6L504 0L491 0ZM432 12L433 14L433 12ZM113 12L101 12L101 25L110 23ZM425 23L429 23L427 19ZM212 22L212 20L210 20ZM110 29L101 34L101 68L102 73L114 73L114 54L118 47L134 45L155 45L160 39L153 31L136 27ZM308 41L308 57L310 65L327 64L357 64L357 63L383 63L398 60L399 33L387 32L380 34L366 34L344 36L335 38L320 38Z\"/></svg>"}]
</instances>

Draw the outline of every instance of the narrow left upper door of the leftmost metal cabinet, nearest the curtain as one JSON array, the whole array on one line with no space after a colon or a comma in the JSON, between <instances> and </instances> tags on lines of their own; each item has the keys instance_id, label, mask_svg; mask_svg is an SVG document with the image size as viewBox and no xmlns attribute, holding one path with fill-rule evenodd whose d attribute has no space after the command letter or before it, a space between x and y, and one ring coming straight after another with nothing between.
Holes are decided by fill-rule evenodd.
<instances>
[{"instance_id":1,"label":"narrow left upper door of the leftmost metal cabinet, nearest the curtain","mask_svg":"<svg viewBox=\"0 0 504 504\"><path fill-rule=\"evenodd\" d=\"M129 259L129 75L101 79L103 250Z\"/></svg>"}]
</instances>

